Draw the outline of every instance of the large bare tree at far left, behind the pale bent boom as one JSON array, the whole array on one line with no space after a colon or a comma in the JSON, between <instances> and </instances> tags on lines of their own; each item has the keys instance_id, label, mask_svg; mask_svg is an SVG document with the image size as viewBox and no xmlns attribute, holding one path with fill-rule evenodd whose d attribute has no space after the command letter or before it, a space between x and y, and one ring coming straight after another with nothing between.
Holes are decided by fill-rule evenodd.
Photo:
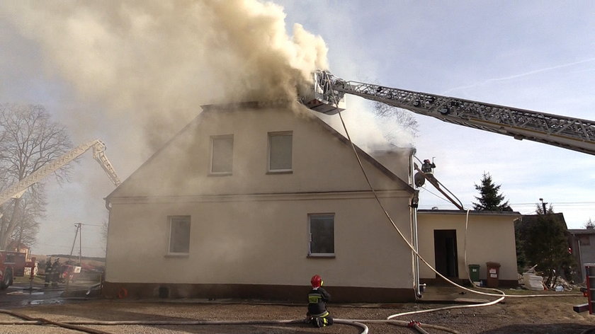
<instances>
[{"instance_id":1,"label":"large bare tree at far left, behind the pale bent boom","mask_svg":"<svg viewBox=\"0 0 595 334\"><path fill-rule=\"evenodd\" d=\"M26 178L72 147L64 127L41 105L0 104L0 190ZM65 166L54 173L68 177ZM32 243L45 212L45 191L32 185L20 197L0 204L0 249L13 241Z\"/></svg>"}]
</instances>

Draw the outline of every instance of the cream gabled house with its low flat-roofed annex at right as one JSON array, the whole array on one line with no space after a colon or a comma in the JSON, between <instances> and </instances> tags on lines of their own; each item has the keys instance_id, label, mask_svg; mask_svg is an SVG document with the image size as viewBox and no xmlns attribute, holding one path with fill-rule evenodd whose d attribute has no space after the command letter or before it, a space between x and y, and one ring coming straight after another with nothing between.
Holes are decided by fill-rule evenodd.
<instances>
[{"instance_id":1,"label":"cream gabled house with its low flat-roofed annex at right","mask_svg":"<svg viewBox=\"0 0 595 334\"><path fill-rule=\"evenodd\" d=\"M387 214L414 243L414 149L376 158L356 150ZM413 301L419 278L435 278L416 270L348 140L297 103L204 106L106 203L106 296L303 301L318 274L334 301ZM419 215L424 257L436 259L436 229L464 240L450 216ZM471 259L501 262L510 280L514 229L510 238L509 224L491 217L476 229L484 216L472 215L471 238L489 233L499 247L482 253L475 243Z\"/></svg>"}]
</instances>

